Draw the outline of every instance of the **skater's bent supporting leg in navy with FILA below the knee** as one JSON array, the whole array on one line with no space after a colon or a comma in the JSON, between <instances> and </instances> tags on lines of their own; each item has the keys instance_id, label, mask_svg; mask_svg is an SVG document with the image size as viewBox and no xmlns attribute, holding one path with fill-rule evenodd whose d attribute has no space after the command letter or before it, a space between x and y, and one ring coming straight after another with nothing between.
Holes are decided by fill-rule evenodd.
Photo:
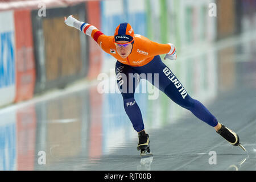
<instances>
[{"instance_id":1,"label":"skater's bent supporting leg in navy with FILA below the knee","mask_svg":"<svg viewBox=\"0 0 256 182\"><path fill-rule=\"evenodd\" d=\"M128 115L134 130L137 132L144 130L144 123L142 119L141 109L134 99L135 88L139 84L139 80L134 77L129 79L129 73L135 74L133 68L117 62L115 65L115 73L117 74L118 88L123 97L123 107Z\"/></svg>"}]
</instances>

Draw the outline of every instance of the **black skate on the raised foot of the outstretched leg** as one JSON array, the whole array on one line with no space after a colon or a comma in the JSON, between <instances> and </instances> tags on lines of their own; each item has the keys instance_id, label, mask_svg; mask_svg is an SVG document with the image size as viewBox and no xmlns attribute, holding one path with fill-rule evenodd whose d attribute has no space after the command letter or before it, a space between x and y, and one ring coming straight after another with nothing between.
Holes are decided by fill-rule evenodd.
<instances>
[{"instance_id":1,"label":"black skate on the raised foot of the outstretched leg","mask_svg":"<svg viewBox=\"0 0 256 182\"><path fill-rule=\"evenodd\" d=\"M246 151L245 148L241 145L238 135L234 133L234 131L221 124L221 128L216 132L233 146L240 146L242 150Z\"/></svg>"}]
</instances>

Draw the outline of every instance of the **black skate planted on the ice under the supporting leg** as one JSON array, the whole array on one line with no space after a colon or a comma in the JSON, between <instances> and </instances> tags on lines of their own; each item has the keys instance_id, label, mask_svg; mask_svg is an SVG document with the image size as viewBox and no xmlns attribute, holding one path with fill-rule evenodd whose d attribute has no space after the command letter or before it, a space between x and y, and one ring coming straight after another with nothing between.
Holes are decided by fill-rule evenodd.
<instances>
[{"instance_id":1,"label":"black skate planted on the ice under the supporting leg","mask_svg":"<svg viewBox=\"0 0 256 182\"><path fill-rule=\"evenodd\" d=\"M152 155L150 151L150 140L149 135L145 133L145 131L139 132L139 143L137 146L137 150L141 150L141 156Z\"/></svg>"}]
</instances>

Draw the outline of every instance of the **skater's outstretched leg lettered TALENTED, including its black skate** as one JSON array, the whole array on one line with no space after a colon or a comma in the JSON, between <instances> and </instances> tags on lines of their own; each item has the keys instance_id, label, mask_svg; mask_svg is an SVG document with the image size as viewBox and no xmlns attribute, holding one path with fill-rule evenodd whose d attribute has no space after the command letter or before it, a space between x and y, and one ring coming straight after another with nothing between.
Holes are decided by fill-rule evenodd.
<instances>
[{"instance_id":1,"label":"skater's outstretched leg lettered TALENTED, including its black skate","mask_svg":"<svg viewBox=\"0 0 256 182\"><path fill-rule=\"evenodd\" d=\"M158 74L159 80L151 81L153 85L166 93L166 95L176 104L190 110L197 118L201 119L208 125L213 126L217 133L228 140L229 143L234 146L240 146L244 151L246 151L240 144L240 139L234 131L228 129L221 123L218 123L214 115L212 115L210 111L201 104L201 102L188 95L187 91L176 78L174 73L171 72L170 68L163 64L160 56L155 56L154 60L150 63L136 69L139 74L141 70L143 70L144 73ZM158 81L157 84L156 81Z\"/></svg>"}]
</instances>

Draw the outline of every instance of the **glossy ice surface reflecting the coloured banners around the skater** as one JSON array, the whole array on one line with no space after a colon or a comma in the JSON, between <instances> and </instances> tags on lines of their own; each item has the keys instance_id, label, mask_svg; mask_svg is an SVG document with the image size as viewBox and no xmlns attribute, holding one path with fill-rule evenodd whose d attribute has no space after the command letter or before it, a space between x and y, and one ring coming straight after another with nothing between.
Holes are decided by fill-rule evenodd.
<instances>
[{"instance_id":1,"label":"glossy ice surface reflecting the coloured banners around the skater","mask_svg":"<svg viewBox=\"0 0 256 182\"><path fill-rule=\"evenodd\" d=\"M236 131L248 154L162 93L157 100L138 93L153 152L142 159L121 94L100 94L93 82L1 109L1 170L256 170L253 35L166 62L188 94Z\"/></svg>"}]
</instances>

